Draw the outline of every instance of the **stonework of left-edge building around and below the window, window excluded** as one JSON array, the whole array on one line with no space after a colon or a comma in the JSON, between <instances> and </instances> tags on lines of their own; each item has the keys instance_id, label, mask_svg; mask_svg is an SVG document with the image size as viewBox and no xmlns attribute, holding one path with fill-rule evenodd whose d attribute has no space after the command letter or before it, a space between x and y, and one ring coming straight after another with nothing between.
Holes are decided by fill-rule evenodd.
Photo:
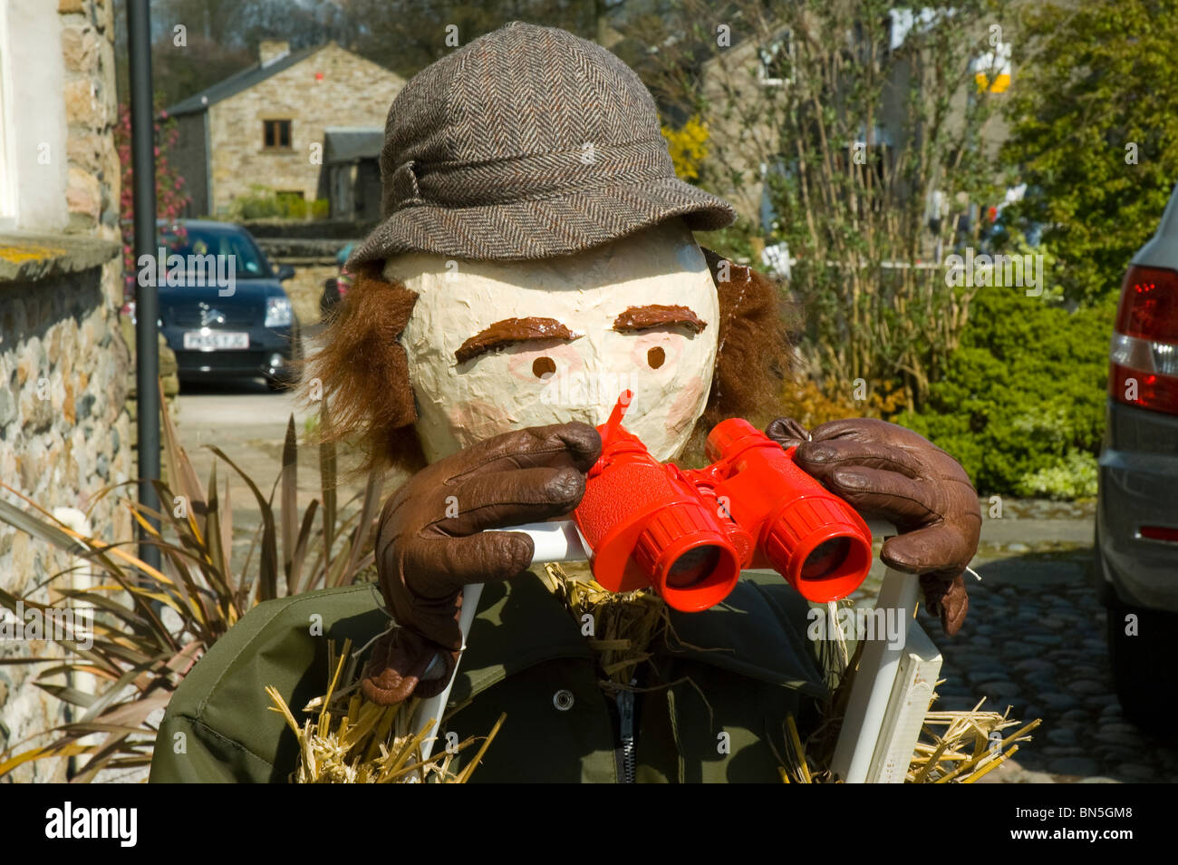
<instances>
[{"instance_id":1,"label":"stonework of left-edge building around and below the window, window excluded","mask_svg":"<svg viewBox=\"0 0 1178 865\"><path fill-rule=\"evenodd\" d=\"M130 354L118 313L114 4L55 5L60 55L38 62L58 64L64 86L60 94L42 92L37 99L42 111L65 112L68 222L61 233L59 222L26 219L22 227L44 236L0 237L0 480L49 511L93 506L94 534L126 540L132 536L126 509L97 496L130 480L134 469L125 405ZM12 73L19 77L21 70ZM0 523L0 586L7 592L54 600L44 583L71 564L44 541ZM0 642L0 656L55 653L52 643ZM0 666L0 752L66 719L61 704L32 685L42 666ZM9 779L61 780L65 771L64 760L35 761Z\"/></svg>"}]
</instances>

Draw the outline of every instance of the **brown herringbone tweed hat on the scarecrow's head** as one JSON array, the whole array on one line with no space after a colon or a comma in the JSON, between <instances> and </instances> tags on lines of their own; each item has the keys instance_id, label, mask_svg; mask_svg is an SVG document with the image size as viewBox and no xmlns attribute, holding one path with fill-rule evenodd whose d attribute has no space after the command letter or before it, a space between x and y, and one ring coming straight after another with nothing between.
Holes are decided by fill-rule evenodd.
<instances>
[{"instance_id":1,"label":"brown herringbone tweed hat on the scarecrow's head","mask_svg":"<svg viewBox=\"0 0 1178 865\"><path fill-rule=\"evenodd\" d=\"M654 99L598 45L514 21L413 77L389 110L384 220L348 262L570 255L732 205L675 177Z\"/></svg>"}]
</instances>

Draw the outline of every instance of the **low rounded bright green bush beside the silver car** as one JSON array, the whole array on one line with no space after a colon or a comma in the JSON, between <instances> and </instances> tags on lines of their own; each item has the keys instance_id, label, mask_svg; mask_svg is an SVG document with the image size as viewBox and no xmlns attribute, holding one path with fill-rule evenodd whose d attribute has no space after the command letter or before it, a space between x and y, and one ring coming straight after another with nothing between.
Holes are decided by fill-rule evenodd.
<instances>
[{"instance_id":1,"label":"low rounded bright green bush beside the silver car","mask_svg":"<svg viewBox=\"0 0 1178 865\"><path fill-rule=\"evenodd\" d=\"M981 289L928 403L893 420L957 457L980 493L1094 495L1116 299L1068 312Z\"/></svg>"}]
</instances>

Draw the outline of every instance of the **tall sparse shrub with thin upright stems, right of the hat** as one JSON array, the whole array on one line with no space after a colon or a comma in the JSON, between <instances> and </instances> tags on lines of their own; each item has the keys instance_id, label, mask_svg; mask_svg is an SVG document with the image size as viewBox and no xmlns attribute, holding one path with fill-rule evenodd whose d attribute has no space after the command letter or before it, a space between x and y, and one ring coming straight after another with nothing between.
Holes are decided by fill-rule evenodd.
<instances>
[{"instance_id":1,"label":"tall sparse shrub with thin upright stems, right of the hat","mask_svg":"<svg viewBox=\"0 0 1178 865\"><path fill-rule=\"evenodd\" d=\"M700 184L769 214L800 303L805 372L826 391L900 383L919 407L959 344L975 291L940 262L975 243L952 202L987 202L987 0L683 0L654 85L710 130ZM898 37L898 34L900 34ZM762 197L763 194L763 197ZM935 217L931 218L931 203ZM944 212L942 212L944 211Z\"/></svg>"}]
</instances>

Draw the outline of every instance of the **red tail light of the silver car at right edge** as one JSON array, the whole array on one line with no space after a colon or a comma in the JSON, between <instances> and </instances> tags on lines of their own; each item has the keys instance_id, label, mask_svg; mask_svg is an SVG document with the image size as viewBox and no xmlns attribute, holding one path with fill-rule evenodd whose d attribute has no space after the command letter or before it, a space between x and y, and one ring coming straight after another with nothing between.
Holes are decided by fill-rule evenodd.
<instances>
[{"instance_id":1,"label":"red tail light of the silver car at right edge","mask_svg":"<svg viewBox=\"0 0 1178 865\"><path fill-rule=\"evenodd\" d=\"M1108 395L1178 415L1178 271L1131 266L1108 358Z\"/></svg>"}]
</instances>

